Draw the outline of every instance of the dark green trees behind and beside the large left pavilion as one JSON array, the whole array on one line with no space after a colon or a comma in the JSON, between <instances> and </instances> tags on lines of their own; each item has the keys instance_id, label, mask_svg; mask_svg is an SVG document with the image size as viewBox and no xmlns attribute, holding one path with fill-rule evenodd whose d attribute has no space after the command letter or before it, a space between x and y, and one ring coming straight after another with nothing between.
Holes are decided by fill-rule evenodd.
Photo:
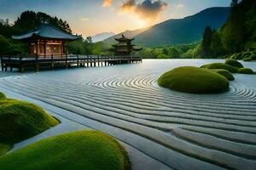
<instances>
[{"instance_id":1,"label":"dark green trees behind and beside the large left pavilion","mask_svg":"<svg viewBox=\"0 0 256 170\"><path fill-rule=\"evenodd\" d=\"M8 19L0 19L0 54L28 54L28 44L14 41L11 37L31 31L42 23L49 23L49 25L67 33L73 32L66 20L61 20L42 12L25 11L20 14L13 24L10 24ZM68 48L72 54L103 53L103 45L101 43L92 43L91 37L71 42Z\"/></svg>"}]
</instances>

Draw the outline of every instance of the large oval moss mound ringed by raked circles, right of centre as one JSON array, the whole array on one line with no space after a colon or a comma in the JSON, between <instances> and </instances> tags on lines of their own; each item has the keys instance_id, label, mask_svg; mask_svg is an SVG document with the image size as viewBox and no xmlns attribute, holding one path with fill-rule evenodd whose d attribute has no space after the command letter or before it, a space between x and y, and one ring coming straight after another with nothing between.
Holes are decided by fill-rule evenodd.
<instances>
[{"instance_id":1,"label":"large oval moss mound ringed by raked circles, right of centre","mask_svg":"<svg viewBox=\"0 0 256 170\"><path fill-rule=\"evenodd\" d=\"M159 79L160 86L192 94L216 94L229 89L229 81L218 73L192 66L168 71Z\"/></svg>"}]
</instances>

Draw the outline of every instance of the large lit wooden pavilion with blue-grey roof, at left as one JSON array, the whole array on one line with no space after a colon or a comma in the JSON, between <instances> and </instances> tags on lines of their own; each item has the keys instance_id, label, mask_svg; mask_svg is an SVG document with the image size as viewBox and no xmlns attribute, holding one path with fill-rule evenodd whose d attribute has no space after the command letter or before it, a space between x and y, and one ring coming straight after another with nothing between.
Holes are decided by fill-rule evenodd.
<instances>
[{"instance_id":1,"label":"large lit wooden pavilion with blue-grey roof, at left","mask_svg":"<svg viewBox=\"0 0 256 170\"><path fill-rule=\"evenodd\" d=\"M61 31L49 24L42 24L37 29L28 31L20 36L13 36L15 40L28 42L29 54L34 57L62 57L68 54L68 42L77 40L81 36L75 36Z\"/></svg>"}]
</instances>

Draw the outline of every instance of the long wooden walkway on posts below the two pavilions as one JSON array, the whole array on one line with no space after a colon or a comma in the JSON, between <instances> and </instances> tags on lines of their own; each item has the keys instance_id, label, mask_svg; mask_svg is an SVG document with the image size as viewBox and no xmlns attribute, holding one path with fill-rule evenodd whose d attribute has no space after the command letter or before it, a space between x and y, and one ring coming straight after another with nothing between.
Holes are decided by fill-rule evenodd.
<instances>
[{"instance_id":1,"label":"long wooden walkway on posts below the two pavilions","mask_svg":"<svg viewBox=\"0 0 256 170\"><path fill-rule=\"evenodd\" d=\"M35 68L38 72L40 67L54 69L55 67L92 67L142 62L141 57L114 55L68 55L57 58L50 56L38 59L26 56L0 56L0 58L2 71L13 71L13 68L18 68L20 72L24 72L26 68Z\"/></svg>"}]
</instances>

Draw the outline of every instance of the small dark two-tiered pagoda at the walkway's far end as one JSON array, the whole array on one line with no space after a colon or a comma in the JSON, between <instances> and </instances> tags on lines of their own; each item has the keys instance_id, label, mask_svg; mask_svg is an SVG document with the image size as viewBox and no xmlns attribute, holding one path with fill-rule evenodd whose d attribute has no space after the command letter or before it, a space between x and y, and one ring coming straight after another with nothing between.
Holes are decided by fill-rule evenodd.
<instances>
[{"instance_id":1,"label":"small dark two-tiered pagoda at the walkway's far end","mask_svg":"<svg viewBox=\"0 0 256 170\"><path fill-rule=\"evenodd\" d=\"M116 38L115 40L119 42L118 44L113 45L116 55L131 55L132 52L140 51L143 49L135 48L135 45L131 43L134 38L130 39L122 35L122 37Z\"/></svg>"}]
</instances>

